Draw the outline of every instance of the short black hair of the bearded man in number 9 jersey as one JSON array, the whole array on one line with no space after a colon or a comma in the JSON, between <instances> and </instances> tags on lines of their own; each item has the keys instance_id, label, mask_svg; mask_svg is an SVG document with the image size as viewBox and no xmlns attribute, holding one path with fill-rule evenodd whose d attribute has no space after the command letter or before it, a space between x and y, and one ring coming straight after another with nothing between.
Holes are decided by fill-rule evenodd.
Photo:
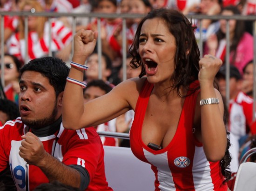
<instances>
[{"instance_id":1,"label":"short black hair of the bearded man in number 9 jersey","mask_svg":"<svg viewBox=\"0 0 256 191\"><path fill-rule=\"evenodd\" d=\"M57 97L64 91L69 67L61 59L47 56L29 61L20 69L20 75L26 71L40 72L48 78Z\"/></svg>"}]
</instances>

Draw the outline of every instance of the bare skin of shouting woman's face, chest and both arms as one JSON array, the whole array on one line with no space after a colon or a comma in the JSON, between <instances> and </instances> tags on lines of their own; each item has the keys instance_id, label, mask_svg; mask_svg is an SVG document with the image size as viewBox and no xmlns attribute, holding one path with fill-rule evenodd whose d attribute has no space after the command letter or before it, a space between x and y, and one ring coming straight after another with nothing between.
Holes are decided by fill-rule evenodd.
<instances>
[{"instance_id":1,"label":"bare skin of shouting woman's face, chest and both arms","mask_svg":"<svg viewBox=\"0 0 256 191\"><path fill-rule=\"evenodd\" d=\"M170 76L174 71L175 39L165 26L165 22L159 19L145 21L142 25L141 36L141 38L145 38L140 41L139 45L143 65L146 66L145 58L154 59L157 62L154 74L146 69L148 81L154 84L154 89L149 97L142 125L142 141L145 145L151 142L165 148L174 137L184 103L184 98L178 97L175 90L170 91L168 88ZM94 49L96 38L96 32L84 30L78 32L74 36L72 60L84 63ZM166 58L162 58L163 55ZM221 94L213 86L213 81L222 61L213 55L205 55L199 65L198 79L201 92L197 97L195 108L193 124L196 128L195 137L202 141L208 160L219 161L225 154L227 137L223 123L223 102ZM80 69L72 67L69 77L82 80L82 74ZM84 105L80 104L83 100L82 88L67 83L63 95L63 125L67 129L95 126L130 109L135 110L144 80L145 78L128 79L121 82L108 94ZM186 93L184 89L181 91L182 94ZM74 92L76 92L75 95ZM220 99L220 104L200 106L200 99L216 97Z\"/></svg>"}]
</instances>

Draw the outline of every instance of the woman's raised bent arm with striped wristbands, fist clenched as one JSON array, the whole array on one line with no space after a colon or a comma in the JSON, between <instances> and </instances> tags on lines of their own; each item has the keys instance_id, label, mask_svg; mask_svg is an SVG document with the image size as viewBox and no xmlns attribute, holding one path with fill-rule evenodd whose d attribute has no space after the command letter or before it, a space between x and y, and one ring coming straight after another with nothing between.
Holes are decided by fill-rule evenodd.
<instances>
[{"instance_id":1,"label":"woman's raised bent arm with striped wristbands, fist clenched","mask_svg":"<svg viewBox=\"0 0 256 191\"><path fill-rule=\"evenodd\" d=\"M74 55L72 61L84 64L93 52L96 44L97 33L80 30L74 36ZM90 69L90 68L89 68ZM71 67L69 77L79 81L83 80L83 70ZM83 127L99 125L130 108L128 103L128 89L135 86L134 80L128 80L116 86L111 92L83 105L82 87L67 82L62 106L63 125L67 129L80 129Z\"/></svg>"}]
</instances>

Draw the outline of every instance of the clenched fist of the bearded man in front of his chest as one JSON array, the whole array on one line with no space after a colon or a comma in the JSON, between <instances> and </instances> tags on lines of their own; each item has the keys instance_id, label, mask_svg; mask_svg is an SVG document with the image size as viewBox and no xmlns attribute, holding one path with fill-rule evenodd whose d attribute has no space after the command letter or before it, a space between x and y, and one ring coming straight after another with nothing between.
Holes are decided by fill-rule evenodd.
<instances>
[{"instance_id":1,"label":"clenched fist of the bearded man in front of his chest","mask_svg":"<svg viewBox=\"0 0 256 191\"><path fill-rule=\"evenodd\" d=\"M32 132L27 132L26 135L21 136L23 140L20 146L20 157L23 158L29 165L42 165L47 152L40 139Z\"/></svg>"}]
</instances>

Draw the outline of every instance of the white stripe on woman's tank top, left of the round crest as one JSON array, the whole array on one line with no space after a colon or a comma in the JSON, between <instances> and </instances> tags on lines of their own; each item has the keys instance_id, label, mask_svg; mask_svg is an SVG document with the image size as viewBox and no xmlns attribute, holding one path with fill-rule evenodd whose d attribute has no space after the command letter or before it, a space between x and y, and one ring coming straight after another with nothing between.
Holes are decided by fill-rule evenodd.
<instances>
[{"instance_id":1,"label":"white stripe on woman's tank top, left of the round crest","mask_svg":"<svg viewBox=\"0 0 256 191\"><path fill-rule=\"evenodd\" d=\"M145 158L154 166L157 166L157 179L161 191L175 191L173 176L169 169L167 152L154 155L143 148ZM161 162L159 162L161 161ZM164 162L165 161L165 162ZM163 173L164 172L164 173Z\"/></svg>"}]
</instances>

